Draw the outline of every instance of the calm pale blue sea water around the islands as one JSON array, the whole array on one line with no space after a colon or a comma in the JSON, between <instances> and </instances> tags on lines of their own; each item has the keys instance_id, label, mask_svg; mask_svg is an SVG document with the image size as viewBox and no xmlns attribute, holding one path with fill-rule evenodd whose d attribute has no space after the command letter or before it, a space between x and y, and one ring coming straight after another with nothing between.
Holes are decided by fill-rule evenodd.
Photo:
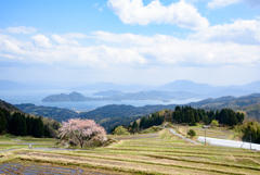
<instances>
[{"instance_id":1,"label":"calm pale blue sea water around the islands","mask_svg":"<svg viewBox=\"0 0 260 175\"><path fill-rule=\"evenodd\" d=\"M172 100L161 102L156 100L122 100L122 101L67 101L67 102L42 102L41 100L50 95L70 93L69 90L0 90L0 99L12 104L34 103L35 105L66 108L77 111L89 111L107 104L129 104L143 107L147 104L185 104L202 99ZM95 91L78 91L86 97L93 97Z\"/></svg>"}]
</instances>

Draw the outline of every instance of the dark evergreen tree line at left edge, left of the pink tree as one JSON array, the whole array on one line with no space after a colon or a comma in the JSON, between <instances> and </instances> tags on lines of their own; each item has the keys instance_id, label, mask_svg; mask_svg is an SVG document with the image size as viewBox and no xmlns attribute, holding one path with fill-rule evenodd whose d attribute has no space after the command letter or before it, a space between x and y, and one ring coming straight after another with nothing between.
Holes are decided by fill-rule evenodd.
<instances>
[{"instance_id":1,"label":"dark evergreen tree line at left edge, left of the pink tree","mask_svg":"<svg viewBox=\"0 0 260 175\"><path fill-rule=\"evenodd\" d=\"M49 120L50 121L50 120ZM0 108L0 134L3 132L15 136L34 136L34 137L56 137L55 129L60 124L56 121L43 124L43 117L32 117L21 112L14 112Z\"/></svg>"}]
</instances>

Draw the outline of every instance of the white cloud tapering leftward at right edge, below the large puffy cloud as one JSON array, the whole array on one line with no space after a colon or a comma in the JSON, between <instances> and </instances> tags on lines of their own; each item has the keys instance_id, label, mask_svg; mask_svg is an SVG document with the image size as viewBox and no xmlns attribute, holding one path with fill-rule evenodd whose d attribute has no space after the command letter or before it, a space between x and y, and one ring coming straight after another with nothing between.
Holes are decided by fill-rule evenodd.
<instances>
[{"instance_id":1,"label":"white cloud tapering leftward at right edge, below the large puffy cloud","mask_svg":"<svg viewBox=\"0 0 260 175\"><path fill-rule=\"evenodd\" d=\"M260 21L236 20L232 24L223 24L208 27L190 38L214 42L238 42L242 45L260 43Z\"/></svg>"}]
</instances>

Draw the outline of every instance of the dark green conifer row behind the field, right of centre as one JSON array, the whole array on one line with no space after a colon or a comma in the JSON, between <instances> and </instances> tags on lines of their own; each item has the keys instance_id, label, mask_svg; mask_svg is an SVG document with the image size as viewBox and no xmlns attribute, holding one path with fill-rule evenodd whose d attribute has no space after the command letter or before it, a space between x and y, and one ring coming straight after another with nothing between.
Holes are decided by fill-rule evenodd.
<instances>
[{"instance_id":1,"label":"dark green conifer row behind the field, right of centre","mask_svg":"<svg viewBox=\"0 0 260 175\"><path fill-rule=\"evenodd\" d=\"M172 112L173 123L186 123L190 126L194 126L198 122L204 122L206 125L210 124L213 120L219 121L220 124L227 126L234 126L242 124L245 115L240 112L235 112L232 109L222 109L220 112L205 111L203 109L194 109L192 107L176 107Z\"/></svg>"}]
</instances>

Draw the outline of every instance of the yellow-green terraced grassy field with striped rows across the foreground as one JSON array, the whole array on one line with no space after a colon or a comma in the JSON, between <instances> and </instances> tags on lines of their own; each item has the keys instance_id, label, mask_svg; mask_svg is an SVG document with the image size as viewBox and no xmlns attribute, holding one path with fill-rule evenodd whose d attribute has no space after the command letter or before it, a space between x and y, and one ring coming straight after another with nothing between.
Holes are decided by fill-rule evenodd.
<instances>
[{"instance_id":1,"label":"yellow-green terraced grassy field with striped rows across the foreground","mask_svg":"<svg viewBox=\"0 0 260 175\"><path fill-rule=\"evenodd\" d=\"M108 137L118 142L94 150L40 151L18 148L17 145L1 145L0 151L10 147L17 148L0 152L0 164L18 161L46 164L48 167L77 168L82 174L260 174L260 152L195 146L177 138L168 129ZM21 140L31 141L26 138ZM39 141L46 146L51 143L46 139L42 142Z\"/></svg>"}]
</instances>

